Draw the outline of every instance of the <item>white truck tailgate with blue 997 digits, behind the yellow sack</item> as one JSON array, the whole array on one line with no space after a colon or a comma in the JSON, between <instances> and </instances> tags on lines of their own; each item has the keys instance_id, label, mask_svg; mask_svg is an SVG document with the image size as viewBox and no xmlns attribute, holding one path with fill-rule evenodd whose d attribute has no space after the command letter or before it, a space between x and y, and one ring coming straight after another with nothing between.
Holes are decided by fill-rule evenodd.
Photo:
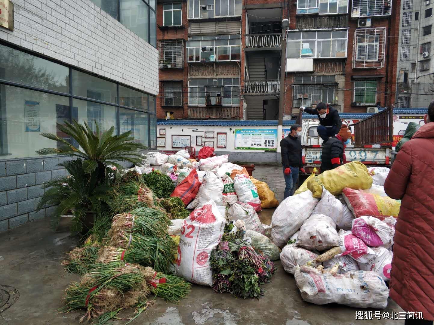
<instances>
[{"instance_id":1,"label":"white truck tailgate with blue 997 digits, behind the yellow sack","mask_svg":"<svg viewBox=\"0 0 434 325\"><path fill-rule=\"evenodd\" d=\"M322 148L303 148L303 158L306 165L320 165L321 164L321 151ZM364 164L372 165L389 165L390 149L384 147L378 148L364 148L354 147L345 149L345 156L347 162L358 160Z\"/></svg>"}]
</instances>

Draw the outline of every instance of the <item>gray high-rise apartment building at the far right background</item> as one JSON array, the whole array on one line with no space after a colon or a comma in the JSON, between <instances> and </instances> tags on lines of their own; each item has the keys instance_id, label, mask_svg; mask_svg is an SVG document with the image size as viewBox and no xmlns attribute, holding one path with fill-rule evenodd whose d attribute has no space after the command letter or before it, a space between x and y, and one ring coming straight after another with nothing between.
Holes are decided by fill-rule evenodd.
<instances>
[{"instance_id":1,"label":"gray high-rise apartment building at the far right background","mask_svg":"<svg viewBox=\"0 0 434 325\"><path fill-rule=\"evenodd\" d=\"M432 0L403 0L399 26L397 107L427 107L434 98Z\"/></svg>"}]
</instances>

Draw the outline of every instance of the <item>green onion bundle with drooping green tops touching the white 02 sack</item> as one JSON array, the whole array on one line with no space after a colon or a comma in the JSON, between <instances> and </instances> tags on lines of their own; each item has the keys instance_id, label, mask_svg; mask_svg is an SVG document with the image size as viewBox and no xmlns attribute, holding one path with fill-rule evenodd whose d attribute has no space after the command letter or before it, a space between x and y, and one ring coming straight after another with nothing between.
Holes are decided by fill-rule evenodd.
<instances>
[{"instance_id":1,"label":"green onion bundle with drooping green tops touching the white 02 sack","mask_svg":"<svg viewBox=\"0 0 434 325\"><path fill-rule=\"evenodd\" d=\"M112 238L111 245L123 247L124 249L137 248L150 252L152 267L156 271L163 273L170 273L171 265L174 262L174 254L178 249L178 245L168 234L155 238L124 231L119 232L116 237Z\"/></svg>"}]
</instances>

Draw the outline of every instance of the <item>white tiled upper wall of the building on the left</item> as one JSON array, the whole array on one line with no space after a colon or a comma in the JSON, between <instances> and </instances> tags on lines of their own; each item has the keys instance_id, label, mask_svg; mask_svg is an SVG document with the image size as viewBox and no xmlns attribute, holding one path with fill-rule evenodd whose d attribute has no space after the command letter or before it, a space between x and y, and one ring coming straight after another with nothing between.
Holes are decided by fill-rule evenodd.
<instances>
[{"instance_id":1,"label":"white tiled upper wall of the building on the left","mask_svg":"<svg viewBox=\"0 0 434 325\"><path fill-rule=\"evenodd\" d=\"M13 0L0 39L156 95L158 51L90 0Z\"/></svg>"}]
</instances>

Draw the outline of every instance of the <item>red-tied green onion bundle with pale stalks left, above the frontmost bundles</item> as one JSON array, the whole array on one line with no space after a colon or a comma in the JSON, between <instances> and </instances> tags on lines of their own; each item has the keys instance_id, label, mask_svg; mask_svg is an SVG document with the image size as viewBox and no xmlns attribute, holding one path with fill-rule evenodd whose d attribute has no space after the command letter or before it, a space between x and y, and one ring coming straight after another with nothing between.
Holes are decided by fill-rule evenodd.
<instances>
[{"instance_id":1,"label":"red-tied green onion bundle with pale stalks left, above the frontmost bundles","mask_svg":"<svg viewBox=\"0 0 434 325\"><path fill-rule=\"evenodd\" d=\"M151 265L151 254L143 249L105 246L99 250L97 263L120 262L137 263L143 266Z\"/></svg>"}]
</instances>

